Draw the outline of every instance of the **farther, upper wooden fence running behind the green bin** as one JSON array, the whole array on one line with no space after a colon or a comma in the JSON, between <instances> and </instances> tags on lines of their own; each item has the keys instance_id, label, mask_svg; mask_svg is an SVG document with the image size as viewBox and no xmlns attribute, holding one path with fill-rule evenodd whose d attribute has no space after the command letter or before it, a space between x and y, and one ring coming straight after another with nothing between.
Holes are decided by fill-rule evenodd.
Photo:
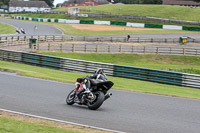
<instances>
[{"instance_id":1,"label":"farther, upper wooden fence running behind the green bin","mask_svg":"<svg viewBox=\"0 0 200 133\"><path fill-rule=\"evenodd\" d=\"M38 42L86 41L86 42L125 42L125 43L179 43L179 38L135 38L131 37L81 37L81 36L12 36L0 37L0 42L19 41L36 38ZM188 38L188 43L200 43L200 40Z\"/></svg>"}]
</instances>

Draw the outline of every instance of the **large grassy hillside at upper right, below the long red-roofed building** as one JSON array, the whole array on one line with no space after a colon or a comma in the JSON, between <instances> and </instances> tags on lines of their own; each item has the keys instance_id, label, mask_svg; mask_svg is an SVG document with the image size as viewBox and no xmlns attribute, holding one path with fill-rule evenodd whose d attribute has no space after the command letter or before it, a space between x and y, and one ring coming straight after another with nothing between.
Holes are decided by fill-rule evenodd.
<instances>
[{"instance_id":1,"label":"large grassy hillside at upper right, below the long red-roofed building","mask_svg":"<svg viewBox=\"0 0 200 133\"><path fill-rule=\"evenodd\" d=\"M149 16L176 20L200 21L199 8L190 8L185 6L170 5L101 5L94 7L81 7L83 9L91 9L90 13L103 11L112 15L128 15L128 16Z\"/></svg>"}]
</instances>

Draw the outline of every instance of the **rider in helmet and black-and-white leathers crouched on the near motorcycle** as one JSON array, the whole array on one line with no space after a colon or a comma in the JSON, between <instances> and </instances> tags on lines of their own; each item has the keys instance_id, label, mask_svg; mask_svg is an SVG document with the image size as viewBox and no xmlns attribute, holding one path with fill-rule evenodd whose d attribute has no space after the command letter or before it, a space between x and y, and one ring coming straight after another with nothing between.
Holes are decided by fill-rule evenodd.
<instances>
[{"instance_id":1,"label":"rider in helmet and black-and-white leathers crouched on the near motorcycle","mask_svg":"<svg viewBox=\"0 0 200 133\"><path fill-rule=\"evenodd\" d=\"M106 81L107 80L107 76L106 74L104 74L104 71L102 68L98 68L95 73L92 75L92 76L86 76L84 78L78 78L76 80L76 95L78 97L78 103L82 103L83 100L81 99L82 98L82 93L85 91L83 85L82 85L82 82L85 81L85 79L95 79L95 80L99 80L99 81ZM86 82L86 88L90 88L91 86L91 83L90 83L90 80L87 80Z\"/></svg>"}]
</instances>

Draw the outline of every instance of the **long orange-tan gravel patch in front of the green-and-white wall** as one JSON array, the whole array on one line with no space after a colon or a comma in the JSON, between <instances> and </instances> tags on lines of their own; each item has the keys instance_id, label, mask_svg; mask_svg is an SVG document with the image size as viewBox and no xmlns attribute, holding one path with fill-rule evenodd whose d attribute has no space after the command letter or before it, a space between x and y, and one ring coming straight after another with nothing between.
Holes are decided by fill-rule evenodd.
<instances>
[{"instance_id":1,"label":"long orange-tan gravel patch in front of the green-and-white wall","mask_svg":"<svg viewBox=\"0 0 200 133\"><path fill-rule=\"evenodd\" d=\"M124 30L162 30L153 28L134 28L124 26L110 26L110 25L89 25L89 24L70 24L73 28L85 31L124 31Z\"/></svg>"}]
</instances>

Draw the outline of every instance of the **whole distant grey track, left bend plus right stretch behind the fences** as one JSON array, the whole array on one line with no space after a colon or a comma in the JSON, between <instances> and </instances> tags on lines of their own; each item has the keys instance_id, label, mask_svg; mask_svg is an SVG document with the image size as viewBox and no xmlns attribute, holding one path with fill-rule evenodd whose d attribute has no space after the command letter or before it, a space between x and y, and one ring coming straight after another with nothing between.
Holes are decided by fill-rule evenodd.
<instances>
[{"instance_id":1,"label":"whole distant grey track, left bend plus right stretch behind the fences","mask_svg":"<svg viewBox=\"0 0 200 133\"><path fill-rule=\"evenodd\" d=\"M7 23L13 25L16 28L24 28L26 34L14 34L14 35L0 35L0 36L34 36L34 35L64 35L62 31L59 29L49 26L46 24L41 23L34 23L28 21L20 21L20 20L13 20L13 19L3 19L0 18L0 22ZM37 29L35 29L37 26ZM98 36L98 37L126 37L127 35L113 35L113 36ZM131 35L132 38L139 37L139 38L179 38L182 36L187 36L193 39L200 40L200 33L180 33L180 34L144 34L144 35Z\"/></svg>"}]
</instances>

